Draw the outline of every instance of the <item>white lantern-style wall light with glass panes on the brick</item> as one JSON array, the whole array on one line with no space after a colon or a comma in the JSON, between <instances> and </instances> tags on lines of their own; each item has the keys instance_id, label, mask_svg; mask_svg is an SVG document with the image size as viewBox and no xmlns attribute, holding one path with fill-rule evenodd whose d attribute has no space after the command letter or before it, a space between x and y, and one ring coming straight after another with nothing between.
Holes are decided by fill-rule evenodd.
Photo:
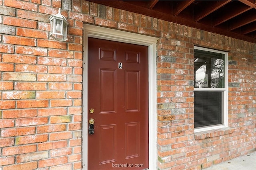
<instances>
[{"instance_id":1,"label":"white lantern-style wall light with glass panes on the brick","mask_svg":"<svg viewBox=\"0 0 256 170\"><path fill-rule=\"evenodd\" d=\"M49 18L51 23L51 32L49 37L52 37L53 39L59 40L59 41L66 41L67 38L67 32L68 32L68 21L64 16L60 14L60 8L59 13L51 16Z\"/></svg>"}]
</instances>

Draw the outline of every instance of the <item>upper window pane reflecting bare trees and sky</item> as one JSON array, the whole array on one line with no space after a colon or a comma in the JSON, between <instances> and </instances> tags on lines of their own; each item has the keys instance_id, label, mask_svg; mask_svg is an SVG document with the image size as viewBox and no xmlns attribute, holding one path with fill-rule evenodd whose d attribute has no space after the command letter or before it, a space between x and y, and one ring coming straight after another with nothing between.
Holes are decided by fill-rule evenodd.
<instances>
[{"instance_id":1,"label":"upper window pane reflecting bare trees and sky","mask_svg":"<svg viewBox=\"0 0 256 170\"><path fill-rule=\"evenodd\" d=\"M194 50L196 88L225 88L225 55Z\"/></svg>"}]
</instances>

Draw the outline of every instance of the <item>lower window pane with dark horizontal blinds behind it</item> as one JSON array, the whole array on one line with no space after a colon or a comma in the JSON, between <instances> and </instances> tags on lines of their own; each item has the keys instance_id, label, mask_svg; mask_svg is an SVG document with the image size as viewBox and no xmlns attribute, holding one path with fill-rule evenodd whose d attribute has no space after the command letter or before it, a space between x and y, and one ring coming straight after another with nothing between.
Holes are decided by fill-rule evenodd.
<instances>
[{"instance_id":1,"label":"lower window pane with dark horizontal blinds behind it","mask_svg":"<svg viewBox=\"0 0 256 170\"><path fill-rule=\"evenodd\" d=\"M194 125L205 127L223 124L224 92L194 92Z\"/></svg>"}]
</instances>

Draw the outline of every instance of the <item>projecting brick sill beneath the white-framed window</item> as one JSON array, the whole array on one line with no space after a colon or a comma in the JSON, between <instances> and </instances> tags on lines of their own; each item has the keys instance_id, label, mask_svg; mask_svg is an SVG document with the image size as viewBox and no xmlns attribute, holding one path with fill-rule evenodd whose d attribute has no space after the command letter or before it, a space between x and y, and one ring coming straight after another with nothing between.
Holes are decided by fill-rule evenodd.
<instances>
[{"instance_id":1,"label":"projecting brick sill beneath the white-framed window","mask_svg":"<svg viewBox=\"0 0 256 170\"><path fill-rule=\"evenodd\" d=\"M195 132L194 135L195 135L196 140L200 140L200 139L206 139L206 138L230 134L230 133L233 133L233 131L234 131L234 129L232 129L230 127L222 127L219 129Z\"/></svg>"}]
</instances>

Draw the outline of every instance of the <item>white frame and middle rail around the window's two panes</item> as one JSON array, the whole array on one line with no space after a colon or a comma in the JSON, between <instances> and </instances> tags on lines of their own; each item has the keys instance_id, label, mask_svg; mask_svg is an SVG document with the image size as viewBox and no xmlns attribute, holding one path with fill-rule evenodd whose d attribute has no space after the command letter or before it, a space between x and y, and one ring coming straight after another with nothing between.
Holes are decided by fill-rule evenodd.
<instances>
[{"instance_id":1,"label":"white frame and middle rail around the window's two panes","mask_svg":"<svg viewBox=\"0 0 256 170\"><path fill-rule=\"evenodd\" d=\"M208 130L213 130L213 129L219 129L223 127L228 127L228 52L225 51L219 51L219 50L214 50L214 49L208 49L204 47L197 47L194 46L194 49L197 50L202 50L202 51L209 51L209 52L214 52L214 53L220 53L225 55L225 88L196 88L194 87L194 92L224 92L224 122L223 125L216 125L216 126L210 126L210 127L200 127L197 129L194 129L194 132L201 132L201 131L208 131Z\"/></svg>"}]
</instances>

